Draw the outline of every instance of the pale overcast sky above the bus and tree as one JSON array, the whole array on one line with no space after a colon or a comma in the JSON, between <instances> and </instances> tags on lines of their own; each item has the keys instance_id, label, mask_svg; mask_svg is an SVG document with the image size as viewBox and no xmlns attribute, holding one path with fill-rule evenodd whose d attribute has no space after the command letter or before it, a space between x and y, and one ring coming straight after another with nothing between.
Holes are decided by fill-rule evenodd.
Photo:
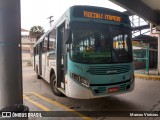
<instances>
[{"instance_id":1,"label":"pale overcast sky above the bus and tree","mask_svg":"<svg viewBox=\"0 0 160 120\"><path fill-rule=\"evenodd\" d=\"M30 30L32 26L40 25L47 31L50 28L47 18L54 16L53 20L56 22L73 5L100 6L125 11L109 0L21 0L21 28Z\"/></svg>"}]
</instances>

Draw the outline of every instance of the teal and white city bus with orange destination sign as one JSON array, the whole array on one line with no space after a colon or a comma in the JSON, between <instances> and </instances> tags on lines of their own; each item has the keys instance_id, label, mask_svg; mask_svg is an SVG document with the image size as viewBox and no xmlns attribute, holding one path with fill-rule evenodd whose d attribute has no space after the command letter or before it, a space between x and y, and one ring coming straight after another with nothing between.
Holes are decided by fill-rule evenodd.
<instances>
[{"instance_id":1,"label":"teal and white city bus with orange destination sign","mask_svg":"<svg viewBox=\"0 0 160 120\"><path fill-rule=\"evenodd\" d=\"M34 44L34 68L55 95L92 99L134 89L132 54L126 14L76 5Z\"/></svg>"}]
</instances>

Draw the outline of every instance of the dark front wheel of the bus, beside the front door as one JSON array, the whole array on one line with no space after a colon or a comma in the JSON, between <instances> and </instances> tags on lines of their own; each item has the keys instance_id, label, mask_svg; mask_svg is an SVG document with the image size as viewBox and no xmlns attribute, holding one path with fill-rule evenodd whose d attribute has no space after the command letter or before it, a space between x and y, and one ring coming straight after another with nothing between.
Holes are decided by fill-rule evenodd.
<instances>
[{"instance_id":1,"label":"dark front wheel of the bus, beside the front door","mask_svg":"<svg viewBox=\"0 0 160 120\"><path fill-rule=\"evenodd\" d=\"M56 87L55 75L52 75L50 84L51 84L51 89L52 89L52 91L53 91L53 93L55 95L57 95L57 96L63 96L63 94Z\"/></svg>"}]
</instances>

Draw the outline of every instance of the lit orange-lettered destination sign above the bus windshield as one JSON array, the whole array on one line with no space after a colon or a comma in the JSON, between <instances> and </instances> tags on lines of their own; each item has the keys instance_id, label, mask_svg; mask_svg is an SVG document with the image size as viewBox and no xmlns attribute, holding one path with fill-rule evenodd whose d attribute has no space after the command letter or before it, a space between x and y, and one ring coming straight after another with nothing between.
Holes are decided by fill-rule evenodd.
<instances>
[{"instance_id":1,"label":"lit orange-lettered destination sign above the bus windshield","mask_svg":"<svg viewBox=\"0 0 160 120\"><path fill-rule=\"evenodd\" d=\"M102 14L102 13L91 12L91 11L83 11L83 17L121 22L121 17L119 17L119 16Z\"/></svg>"}]
</instances>

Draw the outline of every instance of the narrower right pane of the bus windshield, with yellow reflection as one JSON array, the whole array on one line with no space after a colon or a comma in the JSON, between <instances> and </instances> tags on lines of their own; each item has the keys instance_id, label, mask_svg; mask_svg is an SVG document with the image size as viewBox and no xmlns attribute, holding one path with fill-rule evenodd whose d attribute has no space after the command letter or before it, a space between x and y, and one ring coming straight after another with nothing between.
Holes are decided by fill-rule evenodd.
<instances>
[{"instance_id":1,"label":"narrower right pane of the bus windshield, with yellow reflection","mask_svg":"<svg viewBox=\"0 0 160 120\"><path fill-rule=\"evenodd\" d=\"M111 26L111 41L113 41L112 57L114 62L128 62L132 60L132 46L130 30L125 27Z\"/></svg>"}]
</instances>

